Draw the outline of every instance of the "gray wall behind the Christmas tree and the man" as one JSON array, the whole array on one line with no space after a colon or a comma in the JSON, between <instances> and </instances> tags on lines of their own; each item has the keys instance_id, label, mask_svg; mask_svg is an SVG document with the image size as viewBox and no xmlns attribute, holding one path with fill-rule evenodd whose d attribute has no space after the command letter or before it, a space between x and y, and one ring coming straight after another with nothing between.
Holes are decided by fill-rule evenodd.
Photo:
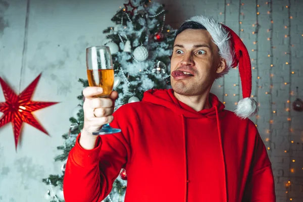
<instances>
[{"instance_id":1,"label":"gray wall behind the Christmas tree and the man","mask_svg":"<svg viewBox=\"0 0 303 202\"><path fill-rule=\"evenodd\" d=\"M205 14L225 22L243 38L254 59L252 94L261 107L258 119L252 120L258 125L266 147L270 148L277 201L288 201L290 197L292 201L301 201L303 113L291 108L287 111L287 100L291 104L295 99L296 86L299 86L299 94L303 98L303 68L300 63L303 25L299 21L302 1L291 0L290 8L286 8L288 1L273 0L272 14L267 13L270 5L260 0L160 2L166 4L169 10L166 22L174 28L190 16ZM122 4L120 0L0 0L0 76L16 93L20 93L42 72L33 100L61 102L34 112L50 136L24 124L17 152L11 124L0 128L0 201L45 200L44 194L49 186L42 184L41 179L61 172L62 163L55 163L53 158L59 154L56 147L63 144L61 135L69 129L69 117L78 104L76 96L81 93L82 86L77 80L86 78L84 50L89 45L102 42L102 30L112 25L110 19ZM259 32L252 34L256 31L252 24L257 21L257 4L260 5L260 27ZM289 16L292 19L289 20ZM268 30L271 26L273 29ZM252 49L256 51L252 52ZM290 64L286 65L286 62ZM270 67L271 64L274 66ZM233 110L241 98L239 86L233 86L239 83L238 70L235 69L213 86L213 92L226 102L229 110ZM224 96L225 93L228 96ZM4 100L3 93L0 93L0 102ZM291 186L286 186L288 180ZM289 190L287 194L286 187Z\"/></svg>"}]
</instances>

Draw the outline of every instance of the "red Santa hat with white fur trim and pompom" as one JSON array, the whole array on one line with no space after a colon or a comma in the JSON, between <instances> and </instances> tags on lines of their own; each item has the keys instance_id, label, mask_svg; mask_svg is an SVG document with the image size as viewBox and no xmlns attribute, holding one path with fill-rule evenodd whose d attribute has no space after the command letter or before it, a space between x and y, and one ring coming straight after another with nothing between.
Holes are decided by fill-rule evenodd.
<instances>
[{"instance_id":1,"label":"red Santa hat with white fur trim and pompom","mask_svg":"<svg viewBox=\"0 0 303 202\"><path fill-rule=\"evenodd\" d=\"M227 68L219 74L222 77L227 74L230 68L238 65L243 99L238 102L235 114L242 118L248 118L255 115L259 106L258 103L251 95L251 65L248 51L240 39L240 37L226 25L218 23L213 18L206 16L194 16L188 21L194 21L203 25L211 34L213 42L219 48L220 56L225 59Z\"/></svg>"}]
</instances>

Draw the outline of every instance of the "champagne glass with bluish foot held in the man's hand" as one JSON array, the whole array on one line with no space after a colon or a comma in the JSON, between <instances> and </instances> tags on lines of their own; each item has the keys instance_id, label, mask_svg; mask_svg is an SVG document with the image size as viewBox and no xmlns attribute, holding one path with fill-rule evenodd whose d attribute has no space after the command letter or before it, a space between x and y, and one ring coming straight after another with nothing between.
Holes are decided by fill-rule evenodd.
<instances>
[{"instance_id":1,"label":"champagne glass with bluish foot held in the man's hand","mask_svg":"<svg viewBox=\"0 0 303 202\"><path fill-rule=\"evenodd\" d=\"M86 68L89 86L103 88L103 93L95 97L109 97L114 86L113 60L108 46L92 46L86 48ZM105 124L93 135L105 135L121 132L121 129L112 128Z\"/></svg>"}]
</instances>

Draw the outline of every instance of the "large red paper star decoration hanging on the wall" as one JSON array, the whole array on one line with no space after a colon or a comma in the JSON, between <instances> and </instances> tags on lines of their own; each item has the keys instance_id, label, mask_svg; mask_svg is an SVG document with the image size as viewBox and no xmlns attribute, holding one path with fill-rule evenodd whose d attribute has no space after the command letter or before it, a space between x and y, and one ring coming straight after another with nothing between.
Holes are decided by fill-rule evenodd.
<instances>
[{"instance_id":1,"label":"large red paper star decoration hanging on the wall","mask_svg":"<svg viewBox=\"0 0 303 202\"><path fill-rule=\"evenodd\" d=\"M48 135L47 131L38 123L38 121L32 115L32 112L55 105L54 102L38 102L30 100L32 94L37 86L41 74L27 86L19 95L17 95L12 88L0 77L0 83L2 86L3 94L6 102L0 103L0 112L4 115L0 119L0 128L9 122L12 122L15 146L17 150L18 139L21 132L22 123L26 122L38 130Z\"/></svg>"}]
</instances>

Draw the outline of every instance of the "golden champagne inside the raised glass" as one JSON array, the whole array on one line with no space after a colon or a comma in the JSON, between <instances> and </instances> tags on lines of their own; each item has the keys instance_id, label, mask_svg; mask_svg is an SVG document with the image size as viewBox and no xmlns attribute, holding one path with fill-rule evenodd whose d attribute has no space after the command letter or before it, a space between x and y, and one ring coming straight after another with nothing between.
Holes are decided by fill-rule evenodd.
<instances>
[{"instance_id":1,"label":"golden champagne inside the raised glass","mask_svg":"<svg viewBox=\"0 0 303 202\"><path fill-rule=\"evenodd\" d=\"M108 97L114 85L113 69L87 70L87 78L89 86L98 86L103 88L103 93L97 97Z\"/></svg>"}]
</instances>

